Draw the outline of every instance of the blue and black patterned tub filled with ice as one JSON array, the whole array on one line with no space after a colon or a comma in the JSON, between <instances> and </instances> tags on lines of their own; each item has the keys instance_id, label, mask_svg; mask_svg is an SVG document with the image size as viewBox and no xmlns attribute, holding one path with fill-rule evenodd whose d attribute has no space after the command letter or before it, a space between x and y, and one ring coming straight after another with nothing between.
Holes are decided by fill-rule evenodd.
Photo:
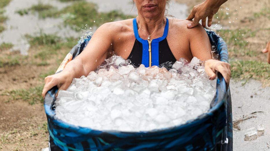
<instances>
[{"instance_id":1,"label":"blue and black patterned tub filled with ice","mask_svg":"<svg viewBox=\"0 0 270 151\"><path fill-rule=\"evenodd\" d=\"M220 60L228 62L226 43L215 32L206 32L211 45L217 46ZM78 56L90 39L91 37L87 37L83 43L73 47L57 72L61 72L68 61ZM226 83L221 74L218 74L216 95L206 114L184 125L153 131L99 131L65 123L55 118L53 104L56 91L57 87L52 88L44 99L50 135L49 146L52 151L232 150L230 90L226 91Z\"/></svg>"}]
</instances>

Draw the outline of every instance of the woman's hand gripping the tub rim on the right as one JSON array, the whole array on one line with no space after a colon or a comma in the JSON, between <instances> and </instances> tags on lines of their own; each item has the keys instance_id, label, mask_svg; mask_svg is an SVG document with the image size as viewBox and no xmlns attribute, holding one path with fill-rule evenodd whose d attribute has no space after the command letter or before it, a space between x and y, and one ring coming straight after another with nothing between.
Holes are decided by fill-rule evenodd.
<instances>
[{"instance_id":1,"label":"woman's hand gripping the tub rim on the right","mask_svg":"<svg viewBox=\"0 0 270 151\"><path fill-rule=\"evenodd\" d=\"M227 62L213 59L207 60L205 62L205 72L209 76L210 80L214 80L216 78L217 71L222 74L228 86L231 77L231 65Z\"/></svg>"}]
</instances>

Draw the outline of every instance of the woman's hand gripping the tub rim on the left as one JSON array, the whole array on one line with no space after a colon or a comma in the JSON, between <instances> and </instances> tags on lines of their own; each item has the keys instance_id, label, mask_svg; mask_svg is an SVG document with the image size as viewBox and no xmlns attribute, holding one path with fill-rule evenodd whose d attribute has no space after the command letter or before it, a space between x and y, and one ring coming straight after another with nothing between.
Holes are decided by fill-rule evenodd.
<instances>
[{"instance_id":1,"label":"woman's hand gripping the tub rim on the left","mask_svg":"<svg viewBox=\"0 0 270 151\"><path fill-rule=\"evenodd\" d=\"M64 73L63 71L46 77L44 79L45 85L42 90L43 98L45 98L46 93L54 86L57 86L59 90L60 89L66 90L69 87L72 80L73 77L70 74Z\"/></svg>"}]
</instances>

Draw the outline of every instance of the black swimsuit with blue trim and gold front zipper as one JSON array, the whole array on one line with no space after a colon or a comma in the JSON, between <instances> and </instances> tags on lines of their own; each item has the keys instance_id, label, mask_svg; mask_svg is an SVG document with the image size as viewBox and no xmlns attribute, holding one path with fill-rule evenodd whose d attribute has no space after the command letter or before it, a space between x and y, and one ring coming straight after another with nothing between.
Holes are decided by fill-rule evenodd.
<instances>
[{"instance_id":1,"label":"black swimsuit with blue trim and gold front zipper","mask_svg":"<svg viewBox=\"0 0 270 151\"><path fill-rule=\"evenodd\" d=\"M133 19L133 29L136 39L128 59L135 66L139 66L140 64L144 64L145 67L159 66L167 61L176 61L166 39L169 29L168 18L166 20L162 37L144 40L139 37L136 18Z\"/></svg>"}]
</instances>

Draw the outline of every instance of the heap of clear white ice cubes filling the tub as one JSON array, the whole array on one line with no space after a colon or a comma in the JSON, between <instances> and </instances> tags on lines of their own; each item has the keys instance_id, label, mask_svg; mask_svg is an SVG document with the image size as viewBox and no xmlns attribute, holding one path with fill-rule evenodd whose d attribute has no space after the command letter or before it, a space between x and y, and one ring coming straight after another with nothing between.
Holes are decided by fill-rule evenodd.
<instances>
[{"instance_id":1,"label":"heap of clear white ice cubes filling the tub","mask_svg":"<svg viewBox=\"0 0 270 151\"><path fill-rule=\"evenodd\" d=\"M215 95L197 58L134 68L112 56L87 77L73 79L56 100L56 117L98 130L149 131L172 127L207 112ZM169 70L167 70L167 69ZM170 69L171 68L171 69Z\"/></svg>"}]
</instances>

